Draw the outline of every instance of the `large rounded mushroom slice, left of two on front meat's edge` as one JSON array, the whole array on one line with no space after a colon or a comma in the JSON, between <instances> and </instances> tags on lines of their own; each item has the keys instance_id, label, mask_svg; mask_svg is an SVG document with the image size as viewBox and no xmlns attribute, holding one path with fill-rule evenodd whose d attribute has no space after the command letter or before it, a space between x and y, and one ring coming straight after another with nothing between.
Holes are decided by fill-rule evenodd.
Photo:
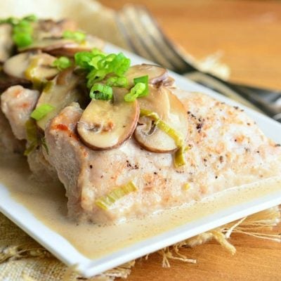
<instances>
[{"instance_id":1,"label":"large rounded mushroom slice, left of two on front meat's edge","mask_svg":"<svg viewBox=\"0 0 281 281\"><path fill-rule=\"evenodd\" d=\"M92 100L79 120L81 141L93 150L117 148L131 137L139 116L138 101L126 103L126 89L114 89L114 101Z\"/></svg>"}]
</instances>

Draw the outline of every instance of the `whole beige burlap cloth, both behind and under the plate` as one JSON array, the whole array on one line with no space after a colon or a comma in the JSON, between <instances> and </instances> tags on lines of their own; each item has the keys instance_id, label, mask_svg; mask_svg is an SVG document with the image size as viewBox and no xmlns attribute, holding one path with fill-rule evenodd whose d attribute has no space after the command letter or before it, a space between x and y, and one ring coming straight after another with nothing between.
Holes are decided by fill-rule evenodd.
<instances>
[{"instance_id":1,"label":"whole beige burlap cloth, both behind and under the plate","mask_svg":"<svg viewBox=\"0 0 281 281\"><path fill-rule=\"evenodd\" d=\"M22 16L35 13L42 18L72 18L79 22L81 29L97 35L105 41L123 48L129 48L119 33L115 22L115 11L101 6L91 0L0 0L0 18L10 15ZM218 63L219 53L207 59L195 61L197 67L227 78L228 67ZM193 60L193 58L190 57ZM169 266L170 259L195 263L180 253L183 247L196 247L208 240L217 240L231 254L235 247L228 242L231 233L244 233L261 239L281 242L280 235L272 233L273 226L280 223L278 207L262 211L240 221L229 223L207 233L202 233L183 242L167 247L157 253L163 256L162 266ZM148 258L148 257L147 257ZM107 272L92 277L83 278L58 261L40 244L24 233L14 223L0 214L0 280L5 281L34 281L34 280L115 280L116 277L127 277L131 272L134 261L123 266L107 270Z\"/></svg>"}]
</instances>

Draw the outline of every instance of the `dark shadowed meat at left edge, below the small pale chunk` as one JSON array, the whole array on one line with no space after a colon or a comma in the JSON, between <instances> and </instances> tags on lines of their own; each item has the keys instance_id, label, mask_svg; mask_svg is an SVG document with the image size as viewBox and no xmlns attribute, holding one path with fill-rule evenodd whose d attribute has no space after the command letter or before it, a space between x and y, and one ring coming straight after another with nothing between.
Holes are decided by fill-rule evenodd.
<instances>
[{"instance_id":1,"label":"dark shadowed meat at left edge, below the small pale chunk","mask_svg":"<svg viewBox=\"0 0 281 281\"><path fill-rule=\"evenodd\" d=\"M24 150L25 142L15 138L8 120L0 110L0 151L22 153Z\"/></svg>"}]
</instances>

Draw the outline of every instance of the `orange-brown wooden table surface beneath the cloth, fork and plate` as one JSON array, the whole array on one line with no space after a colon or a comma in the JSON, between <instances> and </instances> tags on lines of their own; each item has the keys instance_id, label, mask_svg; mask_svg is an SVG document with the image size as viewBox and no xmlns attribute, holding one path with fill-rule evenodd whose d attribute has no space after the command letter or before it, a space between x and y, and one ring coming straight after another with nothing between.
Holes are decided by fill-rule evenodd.
<instances>
[{"instance_id":1,"label":"orange-brown wooden table surface beneath the cloth, fork and plate","mask_svg":"<svg viewBox=\"0 0 281 281\"><path fill-rule=\"evenodd\" d=\"M223 51L231 79L281 89L281 2L202 0L101 0L112 8L126 3L148 6L166 34L195 58ZM281 233L281 225L275 233ZM243 235L230 239L237 254L231 256L216 242L183 254L197 264L162 259L152 254L138 261L129 281L138 280L281 280L281 245Z\"/></svg>"}]
</instances>

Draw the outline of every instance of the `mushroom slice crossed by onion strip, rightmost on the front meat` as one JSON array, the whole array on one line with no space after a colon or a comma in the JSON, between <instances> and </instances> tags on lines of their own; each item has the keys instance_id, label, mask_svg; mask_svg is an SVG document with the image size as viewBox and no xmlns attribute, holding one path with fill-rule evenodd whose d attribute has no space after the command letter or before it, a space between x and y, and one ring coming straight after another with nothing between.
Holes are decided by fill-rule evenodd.
<instances>
[{"instance_id":1,"label":"mushroom slice crossed by onion strip, rightmost on the front meat","mask_svg":"<svg viewBox=\"0 0 281 281\"><path fill-rule=\"evenodd\" d=\"M159 153L172 152L178 148L178 143L180 141L183 143L188 136L188 117L181 101L169 89L161 86L156 91L158 98L155 101L151 100L151 103L147 100L152 93L151 89L148 97L139 99L141 110L155 112L166 131L173 130L173 137L166 133L163 127L157 126L157 119L147 116L140 117L134 136L146 150Z\"/></svg>"}]
</instances>

